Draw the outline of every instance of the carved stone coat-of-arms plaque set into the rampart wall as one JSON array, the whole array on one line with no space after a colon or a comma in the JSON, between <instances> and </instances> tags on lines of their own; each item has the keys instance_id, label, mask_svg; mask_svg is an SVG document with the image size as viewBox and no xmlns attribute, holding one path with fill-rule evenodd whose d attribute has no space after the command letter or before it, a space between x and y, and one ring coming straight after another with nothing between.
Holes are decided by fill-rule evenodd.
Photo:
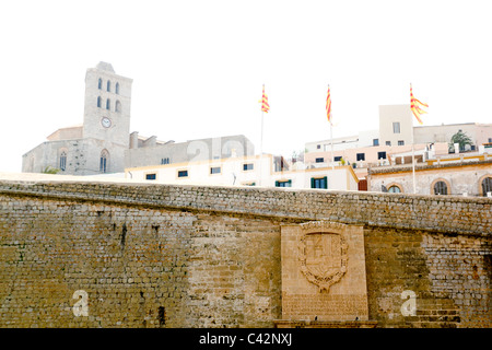
<instances>
[{"instance_id":1,"label":"carved stone coat-of-arms plaque set into the rampart wall","mask_svg":"<svg viewBox=\"0 0 492 350\"><path fill-rule=\"evenodd\" d=\"M282 322L368 319L361 225L281 226Z\"/></svg>"}]
</instances>

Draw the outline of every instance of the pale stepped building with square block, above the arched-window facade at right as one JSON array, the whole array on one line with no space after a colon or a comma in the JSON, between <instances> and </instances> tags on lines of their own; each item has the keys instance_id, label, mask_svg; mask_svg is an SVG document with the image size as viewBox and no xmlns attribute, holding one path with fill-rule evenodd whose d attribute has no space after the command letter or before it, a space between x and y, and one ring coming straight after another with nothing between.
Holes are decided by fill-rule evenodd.
<instances>
[{"instance_id":1,"label":"pale stepped building with square block, above the arched-window facade at right","mask_svg":"<svg viewBox=\"0 0 492 350\"><path fill-rule=\"evenodd\" d=\"M358 136L307 142L304 161L309 167L351 164L360 179L367 176L368 167L411 163L432 156L448 154L454 147L449 141L458 131L465 132L472 152L492 143L492 124L454 124L441 126L413 126L410 105L379 106L379 129L361 131ZM412 147L413 144L413 147ZM332 150L332 152L331 152ZM454 151L456 153L458 151Z\"/></svg>"}]
</instances>

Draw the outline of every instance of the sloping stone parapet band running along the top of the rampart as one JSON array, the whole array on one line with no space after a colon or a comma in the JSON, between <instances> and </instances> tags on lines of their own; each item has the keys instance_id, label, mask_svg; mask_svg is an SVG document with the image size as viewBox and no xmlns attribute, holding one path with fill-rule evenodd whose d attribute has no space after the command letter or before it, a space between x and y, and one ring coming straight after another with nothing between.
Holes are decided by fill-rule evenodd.
<instances>
[{"instance_id":1,"label":"sloping stone parapet band running along the top of the rampart","mask_svg":"<svg viewBox=\"0 0 492 350\"><path fill-rule=\"evenodd\" d=\"M492 199L361 191L0 180L0 194L488 236Z\"/></svg>"}]
</instances>

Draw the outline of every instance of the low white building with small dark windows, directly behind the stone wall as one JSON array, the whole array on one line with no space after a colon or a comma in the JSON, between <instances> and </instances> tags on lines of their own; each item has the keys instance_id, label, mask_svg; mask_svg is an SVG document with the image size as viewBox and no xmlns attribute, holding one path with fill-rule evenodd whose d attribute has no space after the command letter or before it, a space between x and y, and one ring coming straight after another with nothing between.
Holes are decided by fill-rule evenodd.
<instances>
[{"instance_id":1,"label":"low white building with small dark windows, directly behind the stone wall","mask_svg":"<svg viewBox=\"0 0 492 350\"><path fill-rule=\"evenodd\" d=\"M129 167L125 177L157 184L260 186L358 190L351 166L309 168L288 165L271 154Z\"/></svg>"}]
</instances>

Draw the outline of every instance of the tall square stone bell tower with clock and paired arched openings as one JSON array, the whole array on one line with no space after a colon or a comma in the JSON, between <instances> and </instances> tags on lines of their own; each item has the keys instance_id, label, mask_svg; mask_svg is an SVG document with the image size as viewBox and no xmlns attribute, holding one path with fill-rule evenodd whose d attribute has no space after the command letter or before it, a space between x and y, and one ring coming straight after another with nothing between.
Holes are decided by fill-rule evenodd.
<instances>
[{"instance_id":1,"label":"tall square stone bell tower with clock and paired arched openings","mask_svg":"<svg viewBox=\"0 0 492 350\"><path fill-rule=\"evenodd\" d=\"M85 73L82 137L129 147L132 79L117 75L113 66L99 62Z\"/></svg>"}]
</instances>

